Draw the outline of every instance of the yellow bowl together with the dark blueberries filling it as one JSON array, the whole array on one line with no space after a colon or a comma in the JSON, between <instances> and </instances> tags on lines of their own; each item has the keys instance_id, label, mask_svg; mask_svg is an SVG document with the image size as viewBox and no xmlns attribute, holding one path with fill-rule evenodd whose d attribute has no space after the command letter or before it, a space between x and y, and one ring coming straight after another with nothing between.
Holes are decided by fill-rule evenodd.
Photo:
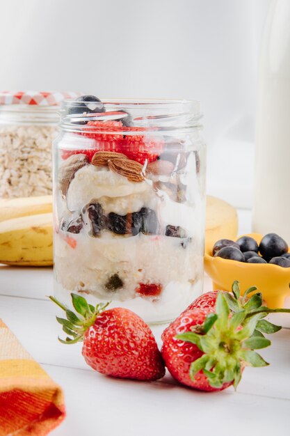
<instances>
[{"instance_id":1,"label":"yellow bowl together with the dark blueberries filling it","mask_svg":"<svg viewBox=\"0 0 290 436\"><path fill-rule=\"evenodd\" d=\"M257 286L273 309L283 307L290 296L289 247L276 233L218 240L214 247L205 249L204 269L214 289L230 291L234 280L240 282L242 293Z\"/></svg>"}]
</instances>

